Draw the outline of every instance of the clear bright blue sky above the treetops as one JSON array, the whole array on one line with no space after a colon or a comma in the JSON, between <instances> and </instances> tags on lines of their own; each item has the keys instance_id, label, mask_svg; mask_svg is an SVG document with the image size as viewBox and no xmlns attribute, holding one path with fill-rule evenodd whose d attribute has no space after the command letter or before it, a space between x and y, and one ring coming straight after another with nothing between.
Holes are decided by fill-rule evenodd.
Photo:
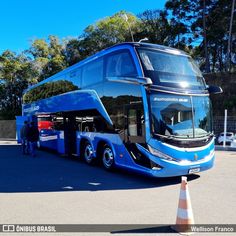
<instances>
[{"instance_id":1,"label":"clear bright blue sky above the treetops","mask_svg":"<svg viewBox=\"0 0 236 236\"><path fill-rule=\"evenodd\" d=\"M118 11L163 9L165 0L1 0L0 53L28 49L32 40L77 37L90 24Z\"/></svg>"}]
</instances>

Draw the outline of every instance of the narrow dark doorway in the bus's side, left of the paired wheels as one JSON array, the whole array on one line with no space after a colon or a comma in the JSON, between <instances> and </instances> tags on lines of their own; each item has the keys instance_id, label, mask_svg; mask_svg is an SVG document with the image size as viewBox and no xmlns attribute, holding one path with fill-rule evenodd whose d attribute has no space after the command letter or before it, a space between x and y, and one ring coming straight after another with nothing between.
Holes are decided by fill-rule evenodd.
<instances>
[{"instance_id":1,"label":"narrow dark doorway in the bus's side, left of the paired wheels","mask_svg":"<svg viewBox=\"0 0 236 236\"><path fill-rule=\"evenodd\" d=\"M76 116L73 113L63 114L65 154L76 155Z\"/></svg>"}]
</instances>

